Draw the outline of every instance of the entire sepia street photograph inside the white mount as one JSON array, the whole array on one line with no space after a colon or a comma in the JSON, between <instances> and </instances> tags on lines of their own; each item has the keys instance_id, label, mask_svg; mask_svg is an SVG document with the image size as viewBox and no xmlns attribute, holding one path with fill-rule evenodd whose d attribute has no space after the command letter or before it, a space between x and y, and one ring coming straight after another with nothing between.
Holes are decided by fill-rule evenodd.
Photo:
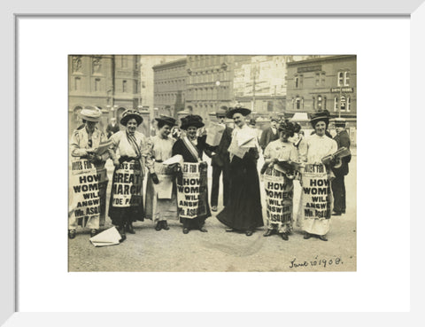
<instances>
[{"instance_id":1,"label":"entire sepia street photograph inside the white mount","mask_svg":"<svg viewBox=\"0 0 425 327\"><path fill-rule=\"evenodd\" d=\"M67 60L69 272L357 271L355 54Z\"/></svg>"}]
</instances>

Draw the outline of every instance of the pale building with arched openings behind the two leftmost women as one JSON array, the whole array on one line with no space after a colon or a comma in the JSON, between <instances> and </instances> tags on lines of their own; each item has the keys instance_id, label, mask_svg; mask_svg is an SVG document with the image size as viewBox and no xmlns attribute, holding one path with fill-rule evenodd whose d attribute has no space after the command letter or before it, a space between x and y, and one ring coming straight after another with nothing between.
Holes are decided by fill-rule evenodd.
<instances>
[{"instance_id":1,"label":"pale building with arched openings behind the two leftmost women","mask_svg":"<svg viewBox=\"0 0 425 327\"><path fill-rule=\"evenodd\" d=\"M79 113L85 106L97 106L103 113L99 128L112 117L140 103L140 56L68 56L69 132L81 125Z\"/></svg>"}]
</instances>

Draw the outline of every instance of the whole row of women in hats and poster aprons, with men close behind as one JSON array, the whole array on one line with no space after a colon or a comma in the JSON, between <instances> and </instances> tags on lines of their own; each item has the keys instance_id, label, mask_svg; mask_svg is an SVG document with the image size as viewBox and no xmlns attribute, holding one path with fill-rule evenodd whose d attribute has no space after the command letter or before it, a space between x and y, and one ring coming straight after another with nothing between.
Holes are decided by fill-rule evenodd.
<instances>
[{"instance_id":1,"label":"whole row of women in hats and poster aprons, with men close behind","mask_svg":"<svg viewBox=\"0 0 425 327\"><path fill-rule=\"evenodd\" d=\"M221 107L216 116L223 127L222 135L220 142L212 145L207 142L208 132L198 115L182 118L180 127L173 117L161 115L155 119L156 135L147 137L137 131L142 116L128 110L120 119L125 129L120 130L112 121L105 136L97 128L100 111L95 107L83 109L83 125L73 131L70 144L72 167L80 170L72 173L79 178L70 183L68 237L75 237L78 226L89 228L93 237L104 225L108 184L105 161L110 159L114 171L108 215L121 241L126 233L135 233L133 222L144 219L153 221L157 231L169 230L170 220L180 220L184 234L190 230L206 232L205 220L218 211L220 176L223 208L216 218L226 231L243 232L249 237L266 222L264 237L277 234L289 240L297 223L305 239L327 241L331 216L346 210L344 176L351 156L336 156L338 149L350 148L345 121L336 120L334 139L327 135L330 116L326 110L313 114L311 136L304 136L296 123L272 119L271 127L259 137L258 129L251 127L255 121L246 120L250 113L241 106ZM225 123L226 118L233 120L233 128ZM204 155L211 158L213 168L211 192ZM264 156L264 166L259 171L260 155ZM189 183L183 178L188 170L197 173L199 187L183 187ZM87 174L96 176L92 180L97 184L88 188L98 192L85 195L85 200L79 202L76 191L90 180ZM261 198L260 180L266 199ZM294 217L295 182L300 183L301 194ZM89 197L99 199L98 209L83 212L79 206L87 205ZM183 210L182 199L196 199L193 210Z\"/></svg>"}]
</instances>

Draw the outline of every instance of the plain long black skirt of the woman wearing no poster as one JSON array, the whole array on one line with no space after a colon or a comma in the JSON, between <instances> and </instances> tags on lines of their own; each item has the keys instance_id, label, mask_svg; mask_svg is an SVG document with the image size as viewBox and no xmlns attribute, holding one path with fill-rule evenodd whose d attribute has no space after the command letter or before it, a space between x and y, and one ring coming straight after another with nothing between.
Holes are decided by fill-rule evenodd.
<instances>
[{"instance_id":1,"label":"plain long black skirt of the woman wearing no poster","mask_svg":"<svg viewBox=\"0 0 425 327\"><path fill-rule=\"evenodd\" d=\"M264 226L257 162L248 153L243 159L233 157L230 163L228 205L217 214L217 219L235 230Z\"/></svg>"}]
</instances>

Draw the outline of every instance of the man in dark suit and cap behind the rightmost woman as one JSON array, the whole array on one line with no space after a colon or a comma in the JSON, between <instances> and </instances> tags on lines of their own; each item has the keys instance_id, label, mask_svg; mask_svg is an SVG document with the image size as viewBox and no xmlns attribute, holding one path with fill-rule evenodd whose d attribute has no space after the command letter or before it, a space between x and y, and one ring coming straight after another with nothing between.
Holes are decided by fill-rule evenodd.
<instances>
[{"instance_id":1,"label":"man in dark suit and cap behind the rightmost woman","mask_svg":"<svg viewBox=\"0 0 425 327\"><path fill-rule=\"evenodd\" d=\"M336 136L334 140L338 144L338 149L345 147L350 150L350 136L345 130L344 118L336 118L335 120ZM345 182L344 176L348 175L348 163L352 160L349 155L342 159L341 167L333 167L335 179L332 180L332 192L334 193L334 212L333 215L345 214Z\"/></svg>"}]
</instances>

